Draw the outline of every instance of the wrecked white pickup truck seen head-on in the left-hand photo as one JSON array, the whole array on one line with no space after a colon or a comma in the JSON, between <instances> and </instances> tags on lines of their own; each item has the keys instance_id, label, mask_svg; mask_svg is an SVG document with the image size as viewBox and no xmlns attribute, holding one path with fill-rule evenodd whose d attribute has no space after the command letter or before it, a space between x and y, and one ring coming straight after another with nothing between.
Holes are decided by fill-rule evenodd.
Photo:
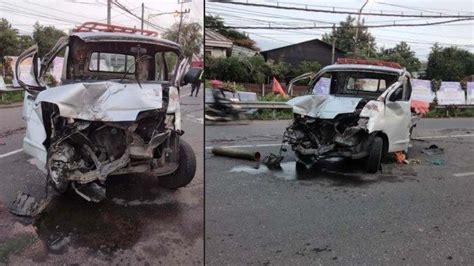
<instances>
[{"instance_id":1,"label":"wrecked white pickup truck seen head-on in the left-hand photo","mask_svg":"<svg viewBox=\"0 0 474 266\"><path fill-rule=\"evenodd\" d=\"M180 46L156 35L85 23L42 60L37 46L19 56L23 150L58 192L72 188L98 202L111 175L152 175L172 189L193 179L195 155L180 138L179 91L198 77L186 75ZM47 73L58 56L64 56L61 80L51 86Z\"/></svg>"}]
</instances>

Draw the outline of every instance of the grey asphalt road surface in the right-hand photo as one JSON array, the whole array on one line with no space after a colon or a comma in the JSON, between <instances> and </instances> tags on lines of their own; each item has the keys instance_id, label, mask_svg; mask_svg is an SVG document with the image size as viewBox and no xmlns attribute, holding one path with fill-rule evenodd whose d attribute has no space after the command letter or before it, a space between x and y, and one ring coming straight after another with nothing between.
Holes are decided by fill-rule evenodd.
<instances>
[{"instance_id":1,"label":"grey asphalt road surface in the right-hand photo","mask_svg":"<svg viewBox=\"0 0 474 266\"><path fill-rule=\"evenodd\" d=\"M288 123L206 126L206 263L472 265L474 119L422 120L408 154L420 164L377 174L355 161L298 175L291 151L281 171L210 153L276 153ZM445 153L422 154L431 144Z\"/></svg>"}]
</instances>

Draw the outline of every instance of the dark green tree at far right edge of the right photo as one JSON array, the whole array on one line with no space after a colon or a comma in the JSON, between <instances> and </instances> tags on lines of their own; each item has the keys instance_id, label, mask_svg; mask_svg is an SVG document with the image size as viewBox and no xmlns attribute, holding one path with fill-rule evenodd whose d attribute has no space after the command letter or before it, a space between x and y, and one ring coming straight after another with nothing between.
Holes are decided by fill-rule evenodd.
<instances>
[{"instance_id":1,"label":"dark green tree at far right edge of the right photo","mask_svg":"<svg viewBox=\"0 0 474 266\"><path fill-rule=\"evenodd\" d=\"M440 47L437 43L428 56L427 79L460 81L474 74L474 54L457 47Z\"/></svg>"}]
</instances>

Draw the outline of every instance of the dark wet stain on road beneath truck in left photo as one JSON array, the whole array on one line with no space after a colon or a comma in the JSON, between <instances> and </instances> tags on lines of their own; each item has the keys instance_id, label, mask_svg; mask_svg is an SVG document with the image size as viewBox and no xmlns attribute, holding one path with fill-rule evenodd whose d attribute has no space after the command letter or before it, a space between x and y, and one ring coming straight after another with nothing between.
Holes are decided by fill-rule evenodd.
<instances>
[{"instance_id":1,"label":"dark wet stain on road beneath truck in left photo","mask_svg":"<svg viewBox=\"0 0 474 266\"><path fill-rule=\"evenodd\" d=\"M128 249L147 234L147 224L170 223L181 206L154 177L116 176L107 180L107 200L90 203L74 192L57 196L35 221L52 253L69 245L104 254Z\"/></svg>"}]
</instances>

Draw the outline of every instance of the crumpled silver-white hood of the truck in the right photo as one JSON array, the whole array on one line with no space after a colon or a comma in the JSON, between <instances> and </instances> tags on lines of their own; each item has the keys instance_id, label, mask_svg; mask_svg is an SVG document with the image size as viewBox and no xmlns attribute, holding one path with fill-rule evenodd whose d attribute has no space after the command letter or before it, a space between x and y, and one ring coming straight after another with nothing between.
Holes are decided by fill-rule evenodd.
<instances>
[{"instance_id":1,"label":"crumpled silver-white hood of the truck in the right photo","mask_svg":"<svg viewBox=\"0 0 474 266\"><path fill-rule=\"evenodd\" d=\"M321 118L333 119L338 114L352 113L362 98L336 97L333 95L305 95L287 102L293 106L293 113Z\"/></svg>"}]
</instances>

